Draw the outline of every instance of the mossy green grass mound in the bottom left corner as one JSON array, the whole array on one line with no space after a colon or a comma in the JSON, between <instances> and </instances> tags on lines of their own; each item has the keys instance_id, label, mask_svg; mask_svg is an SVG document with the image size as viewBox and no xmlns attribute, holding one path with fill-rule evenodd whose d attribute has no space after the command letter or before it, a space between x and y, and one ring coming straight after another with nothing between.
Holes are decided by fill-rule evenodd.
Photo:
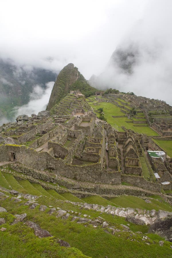
<instances>
[{"instance_id":1,"label":"mossy green grass mound in the bottom left corner","mask_svg":"<svg viewBox=\"0 0 172 258\"><path fill-rule=\"evenodd\" d=\"M7 230L0 234L0 257L86 257L75 248L60 247L57 238L38 238L34 231L23 223L5 224Z\"/></svg>"}]
</instances>

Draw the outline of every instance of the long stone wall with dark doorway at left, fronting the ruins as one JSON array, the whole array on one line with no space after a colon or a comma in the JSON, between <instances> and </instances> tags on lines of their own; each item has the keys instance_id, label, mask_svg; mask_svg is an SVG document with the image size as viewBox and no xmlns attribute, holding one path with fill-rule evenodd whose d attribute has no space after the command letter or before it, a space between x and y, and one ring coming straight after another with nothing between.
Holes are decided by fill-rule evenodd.
<instances>
[{"instance_id":1,"label":"long stone wall with dark doorway at left, fronting the ruins","mask_svg":"<svg viewBox=\"0 0 172 258\"><path fill-rule=\"evenodd\" d=\"M90 181L97 183L114 183L120 184L120 173L102 170L101 163L90 165L70 165L66 164L62 159L55 159L47 152L37 152L26 146L3 145L1 147L4 155L1 157L3 161L8 161L10 153L15 153L16 161L24 164L31 169L44 171L54 167L54 173L64 175L69 178ZM2 161L2 160L1 160Z\"/></svg>"}]
</instances>

